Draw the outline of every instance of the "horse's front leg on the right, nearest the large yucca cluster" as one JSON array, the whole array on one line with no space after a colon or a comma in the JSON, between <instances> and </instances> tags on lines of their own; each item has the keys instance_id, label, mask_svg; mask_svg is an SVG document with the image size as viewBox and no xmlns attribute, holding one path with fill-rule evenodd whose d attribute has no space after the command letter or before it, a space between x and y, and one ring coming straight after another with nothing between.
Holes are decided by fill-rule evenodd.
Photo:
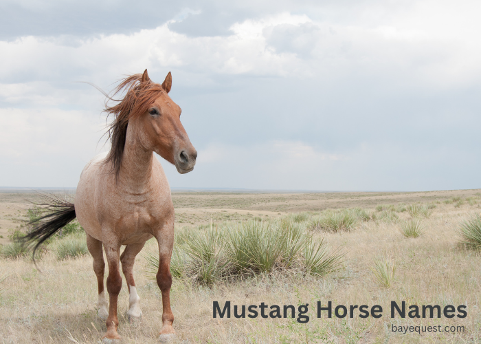
<instances>
[{"instance_id":1,"label":"horse's front leg on the right, nearest the large yucca cluster","mask_svg":"<svg viewBox=\"0 0 481 344\"><path fill-rule=\"evenodd\" d=\"M163 231L157 241L159 243L159 270L157 271L157 285L162 293L162 329L159 332L159 341L167 343L175 337L175 330L172 327L174 314L170 308L170 286L172 286L172 275L170 275L170 257L174 246L174 228Z\"/></svg>"}]
</instances>

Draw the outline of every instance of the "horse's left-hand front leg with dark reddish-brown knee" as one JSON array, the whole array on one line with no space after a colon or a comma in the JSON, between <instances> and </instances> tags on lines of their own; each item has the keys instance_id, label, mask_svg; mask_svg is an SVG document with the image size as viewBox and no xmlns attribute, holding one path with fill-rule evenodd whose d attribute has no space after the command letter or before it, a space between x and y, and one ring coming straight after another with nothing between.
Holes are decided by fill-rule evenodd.
<instances>
[{"instance_id":1,"label":"horse's left-hand front leg with dark reddish-brown knee","mask_svg":"<svg viewBox=\"0 0 481 344\"><path fill-rule=\"evenodd\" d=\"M107 333L102 337L104 343L120 343L117 333L119 320L117 318L117 301L122 289L122 277L119 271L120 244L106 245L104 243L107 264L109 264L109 277L107 277L107 291L109 292L109 316L107 317Z\"/></svg>"}]
</instances>

